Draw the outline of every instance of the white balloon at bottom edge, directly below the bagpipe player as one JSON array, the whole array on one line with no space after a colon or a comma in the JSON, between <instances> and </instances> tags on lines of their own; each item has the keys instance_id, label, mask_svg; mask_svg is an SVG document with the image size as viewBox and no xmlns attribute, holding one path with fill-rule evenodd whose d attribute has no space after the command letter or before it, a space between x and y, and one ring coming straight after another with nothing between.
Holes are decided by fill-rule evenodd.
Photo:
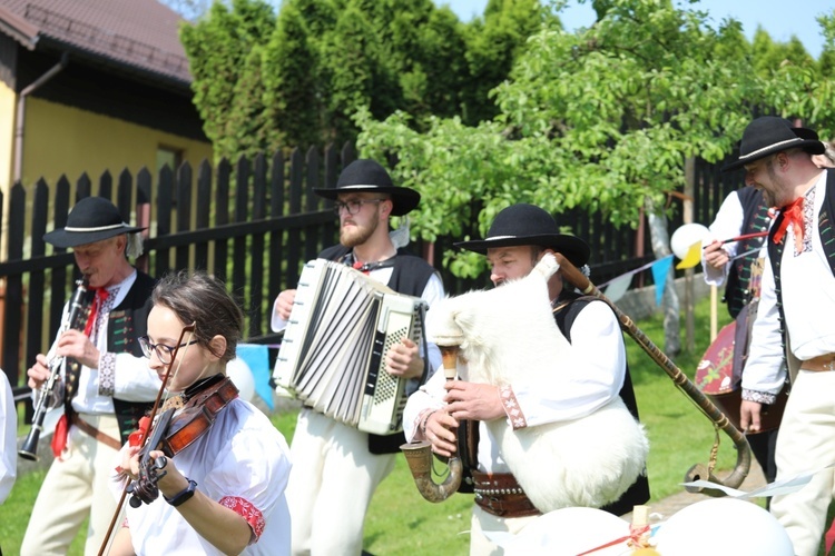
<instances>
[{"instance_id":1,"label":"white balloon at bottom edge, directly below the bagpipe player","mask_svg":"<svg viewBox=\"0 0 835 556\"><path fill-rule=\"evenodd\" d=\"M514 538L502 545L507 556L574 556L627 535L629 522L608 512L562 508L533 519ZM623 540L596 550L595 556L617 556L627 548L627 542Z\"/></svg>"}]
</instances>

